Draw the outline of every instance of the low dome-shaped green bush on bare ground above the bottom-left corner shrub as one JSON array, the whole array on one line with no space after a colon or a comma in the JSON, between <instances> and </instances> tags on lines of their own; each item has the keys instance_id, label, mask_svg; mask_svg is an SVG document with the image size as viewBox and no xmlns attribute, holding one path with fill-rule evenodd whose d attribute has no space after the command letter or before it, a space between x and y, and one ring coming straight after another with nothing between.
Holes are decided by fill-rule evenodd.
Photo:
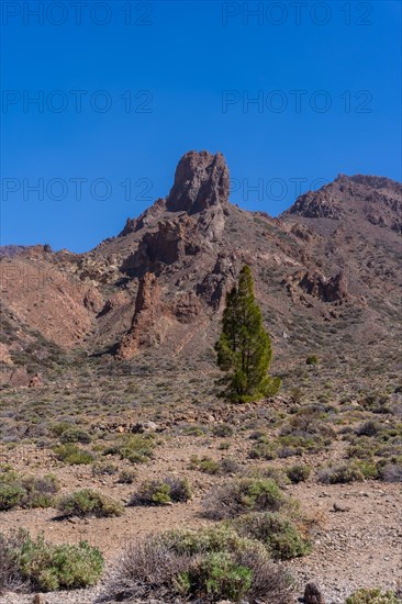
<instances>
[{"instance_id":1,"label":"low dome-shaped green bush on bare ground above the bottom-left corner shrub","mask_svg":"<svg viewBox=\"0 0 402 604\"><path fill-rule=\"evenodd\" d=\"M82 489L63 497L57 508L64 516L121 516L124 508L121 503L93 491Z\"/></svg>"}]
</instances>

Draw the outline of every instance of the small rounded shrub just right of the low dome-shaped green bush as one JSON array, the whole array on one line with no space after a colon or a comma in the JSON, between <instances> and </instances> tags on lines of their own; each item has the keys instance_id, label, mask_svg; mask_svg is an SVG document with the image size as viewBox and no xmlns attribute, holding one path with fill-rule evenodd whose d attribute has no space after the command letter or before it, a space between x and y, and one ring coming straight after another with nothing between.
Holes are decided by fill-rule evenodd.
<instances>
[{"instance_id":1,"label":"small rounded shrub just right of the low dome-shaped green bush","mask_svg":"<svg viewBox=\"0 0 402 604\"><path fill-rule=\"evenodd\" d=\"M192 497L189 481L174 476L159 480L143 482L138 491L133 494L130 505L168 505L176 502L186 502Z\"/></svg>"}]
</instances>

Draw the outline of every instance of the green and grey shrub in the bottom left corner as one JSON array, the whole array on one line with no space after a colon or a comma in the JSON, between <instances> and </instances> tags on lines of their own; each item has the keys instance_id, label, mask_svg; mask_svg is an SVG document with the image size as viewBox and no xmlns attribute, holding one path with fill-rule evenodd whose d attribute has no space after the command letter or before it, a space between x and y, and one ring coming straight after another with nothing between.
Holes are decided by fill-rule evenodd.
<instances>
[{"instance_id":1,"label":"green and grey shrub in the bottom left corner","mask_svg":"<svg viewBox=\"0 0 402 604\"><path fill-rule=\"evenodd\" d=\"M43 592L87 588L103 570L101 552L86 541L55 546L22 529L0 535L0 593L18 584Z\"/></svg>"}]
</instances>

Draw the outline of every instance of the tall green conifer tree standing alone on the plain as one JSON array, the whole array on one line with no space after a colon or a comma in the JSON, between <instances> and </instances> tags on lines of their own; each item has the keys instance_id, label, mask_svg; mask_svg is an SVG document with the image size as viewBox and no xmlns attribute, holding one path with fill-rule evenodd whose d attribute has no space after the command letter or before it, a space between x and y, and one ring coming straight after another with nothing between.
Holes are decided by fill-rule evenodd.
<instances>
[{"instance_id":1,"label":"tall green conifer tree standing alone on the plain","mask_svg":"<svg viewBox=\"0 0 402 604\"><path fill-rule=\"evenodd\" d=\"M252 270L244 266L238 283L226 295L222 334L215 345L217 365L226 371L228 396L236 402L258 401L280 389L280 379L268 376L271 340L255 302Z\"/></svg>"}]
</instances>

